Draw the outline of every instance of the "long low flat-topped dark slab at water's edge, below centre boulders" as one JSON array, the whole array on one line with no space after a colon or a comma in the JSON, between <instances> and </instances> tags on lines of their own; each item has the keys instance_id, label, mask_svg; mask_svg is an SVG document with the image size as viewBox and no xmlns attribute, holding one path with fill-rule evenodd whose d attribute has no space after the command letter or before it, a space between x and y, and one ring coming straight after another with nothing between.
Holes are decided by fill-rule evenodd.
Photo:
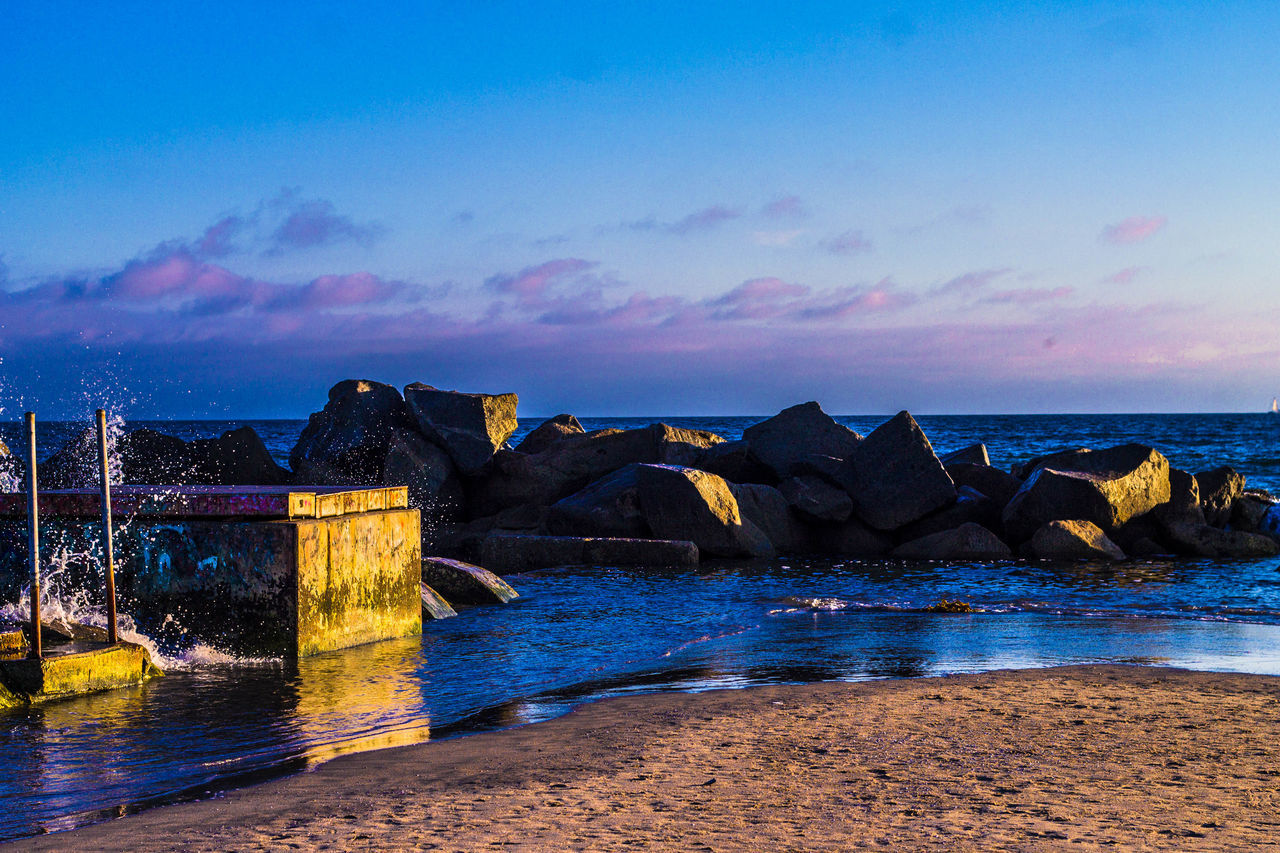
<instances>
[{"instance_id":1,"label":"long low flat-topped dark slab at water's edge, below centre boulders","mask_svg":"<svg viewBox=\"0 0 1280 853\"><path fill-rule=\"evenodd\" d=\"M480 555L481 562L502 573L577 565L686 569L696 566L699 556L692 542L511 534L488 537Z\"/></svg>"}]
</instances>

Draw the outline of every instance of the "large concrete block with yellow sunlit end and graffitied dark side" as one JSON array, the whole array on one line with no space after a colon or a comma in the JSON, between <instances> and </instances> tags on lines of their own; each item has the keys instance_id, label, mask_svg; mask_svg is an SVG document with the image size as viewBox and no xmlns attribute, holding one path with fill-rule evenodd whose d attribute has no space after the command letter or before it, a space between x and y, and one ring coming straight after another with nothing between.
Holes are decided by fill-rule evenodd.
<instances>
[{"instance_id":1,"label":"large concrete block with yellow sunlit end and graffitied dark side","mask_svg":"<svg viewBox=\"0 0 1280 853\"><path fill-rule=\"evenodd\" d=\"M24 496L0 494L0 594L27 578ZM303 656L417 634L421 539L406 488L119 487L122 612L141 628L241 654ZM92 555L96 489L42 492L51 557ZM101 588L91 556L67 583Z\"/></svg>"}]
</instances>

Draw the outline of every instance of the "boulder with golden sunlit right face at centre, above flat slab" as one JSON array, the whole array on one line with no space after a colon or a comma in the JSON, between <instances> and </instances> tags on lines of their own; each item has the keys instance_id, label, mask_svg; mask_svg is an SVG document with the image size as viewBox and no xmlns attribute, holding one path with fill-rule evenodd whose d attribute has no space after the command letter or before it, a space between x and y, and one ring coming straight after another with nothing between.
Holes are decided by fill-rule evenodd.
<instances>
[{"instance_id":1,"label":"boulder with golden sunlit right face at centre, above flat slab","mask_svg":"<svg viewBox=\"0 0 1280 853\"><path fill-rule=\"evenodd\" d=\"M636 465L640 508L660 539L686 539L722 557L772 557L764 533L744 521L728 483L678 465Z\"/></svg>"}]
</instances>

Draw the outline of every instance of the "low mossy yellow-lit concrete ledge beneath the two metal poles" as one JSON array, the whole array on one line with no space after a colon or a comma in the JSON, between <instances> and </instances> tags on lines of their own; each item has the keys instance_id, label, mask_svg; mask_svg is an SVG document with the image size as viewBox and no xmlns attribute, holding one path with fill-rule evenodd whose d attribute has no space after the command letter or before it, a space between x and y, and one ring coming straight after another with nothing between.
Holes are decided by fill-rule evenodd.
<instances>
[{"instance_id":1,"label":"low mossy yellow-lit concrete ledge beneath the two metal poles","mask_svg":"<svg viewBox=\"0 0 1280 853\"><path fill-rule=\"evenodd\" d=\"M0 660L0 707L114 690L156 675L164 674L133 643L70 649L41 660Z\"/></svg>"}]
</instances>

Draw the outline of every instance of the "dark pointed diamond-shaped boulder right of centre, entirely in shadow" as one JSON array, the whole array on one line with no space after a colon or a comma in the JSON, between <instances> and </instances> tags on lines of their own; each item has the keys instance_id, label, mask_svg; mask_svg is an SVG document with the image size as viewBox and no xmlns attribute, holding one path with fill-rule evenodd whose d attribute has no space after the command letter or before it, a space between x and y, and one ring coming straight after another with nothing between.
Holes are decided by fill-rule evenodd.
<instances>
[{"instance_id":1,"label":"dark pointed diamond-shaped boulder right of centre, entirely in shadow","mask_svg":"<svg viewBox=\"0 0 1280 853\"><path fill-rule=\"evenodd\" d=\"M872 430L841 474L854 514L878 530L896 530L956 500L951 476L906 411Z\"/></svg>"}]
</instances>

